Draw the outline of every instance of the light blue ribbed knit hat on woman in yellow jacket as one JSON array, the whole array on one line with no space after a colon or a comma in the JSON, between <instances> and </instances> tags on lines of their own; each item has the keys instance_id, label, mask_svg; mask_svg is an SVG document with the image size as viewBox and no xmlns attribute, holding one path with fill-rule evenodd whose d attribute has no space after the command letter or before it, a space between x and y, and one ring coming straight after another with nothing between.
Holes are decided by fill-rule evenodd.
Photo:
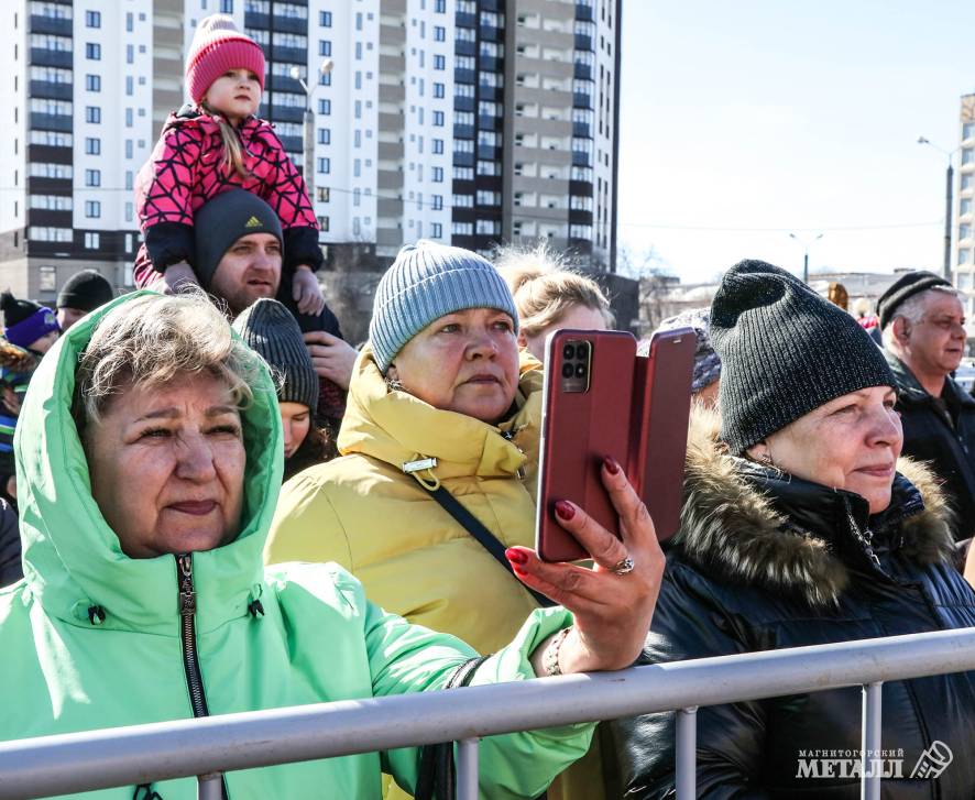
<instances>
[{"instance_id":1,"label":"light blue ribbed knit hat on woman in yellow jacket","mask_svg":"<svg viewBox=\"0 0 975 800\"><path fill-rule=\"evenodd\" d=\"M376 287L369 341L380 371L413 337L445 314L496 308L518 331L518 313L507 284L486 259L421 239L406 244Z\"/></svg>"}]
</instances>

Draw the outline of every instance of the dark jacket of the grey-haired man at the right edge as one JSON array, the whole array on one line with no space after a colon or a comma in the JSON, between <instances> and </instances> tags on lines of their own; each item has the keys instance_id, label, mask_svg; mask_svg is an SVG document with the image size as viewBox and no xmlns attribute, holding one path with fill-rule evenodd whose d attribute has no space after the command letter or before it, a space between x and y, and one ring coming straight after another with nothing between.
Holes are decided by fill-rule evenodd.
<instances>
[{"instance_id":1,"label":"dark jacket of the grey-haired man at the right edge","mask_svg":"<svg viewBox=\"0 0 975 800\"><path fill-rule=\"evenodd\" d=\"M903 454L930 462L954 511L954 538L967 539L975 534L975 399L945 379L945 401L957 409L955 425L902 361L890 353L887 361L897 379Z\"/></svg>"}]
</instances>

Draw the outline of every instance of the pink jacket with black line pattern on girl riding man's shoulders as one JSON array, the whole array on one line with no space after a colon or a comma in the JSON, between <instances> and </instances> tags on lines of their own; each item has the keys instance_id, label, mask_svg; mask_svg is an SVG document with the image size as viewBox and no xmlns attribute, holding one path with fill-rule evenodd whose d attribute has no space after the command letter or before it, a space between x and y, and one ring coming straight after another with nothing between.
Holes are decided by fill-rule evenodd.
<instances>
[{"instance_id":1,"label":"pink jacket with black line pattern on girl riding man's shoulders","mask_svg":"<svg viewBox=\"0 0 975 800\"><path fill-rule=\"evenodd\" d=\"M321 265L318 220L305 180L271 123L251 117L238 130L247 178L223 165L223 142L213 117L194 106L169 114L152 156L135 179L144 239L135 256L136 286L152 283L169 264L194 263L194 213L231 188L252 191L277 213L285 239L284 276L298 264L313 270Z\"/></svg>"}]
</instances>

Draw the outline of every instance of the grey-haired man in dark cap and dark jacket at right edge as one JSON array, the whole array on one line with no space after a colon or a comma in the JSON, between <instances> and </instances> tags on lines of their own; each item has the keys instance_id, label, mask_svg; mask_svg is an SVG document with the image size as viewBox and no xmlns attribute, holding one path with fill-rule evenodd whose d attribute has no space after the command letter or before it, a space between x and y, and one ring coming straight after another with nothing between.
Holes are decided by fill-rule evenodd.
<instances>
[{"instance_id":1,"label":"grey-haired man in dark cap and dark jacket at right edge","mask_svg":"<svg viewBox=\"0 0 975 800\"><path fill-rule=\"evenodd\" d=\"M877 302L887 361L897 379L903 454L929 461L954 508L956 540L975 533L975 399L954 372L965 353L958 294L931 272L910 272Z\"/></svg>"}]
</instances>

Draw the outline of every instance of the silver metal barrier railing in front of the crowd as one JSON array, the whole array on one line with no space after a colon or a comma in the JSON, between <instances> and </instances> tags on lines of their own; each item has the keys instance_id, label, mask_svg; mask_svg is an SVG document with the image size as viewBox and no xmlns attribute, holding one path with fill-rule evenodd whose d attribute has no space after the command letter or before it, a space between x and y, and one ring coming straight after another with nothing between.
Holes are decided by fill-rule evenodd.
<instances>
[{"instance_id":1,"label":"silver metal barrier railing in front of the crowd","mask_svg":"<svg viewBox=\"0 0 975 800\"><path fill-rule=\"evenodd\" d=\"M863 797L879 798L885 681L975 669L975 628L702 658L380 699L271 709L0 743L0 800L201 776L437 742L458 742L458 797L478 797L478 739L593 720L678 711L678 798L693 798L695 711L864 687ZM0 728L2 730L2 728Z\"/></svg>"}]
</instances>

